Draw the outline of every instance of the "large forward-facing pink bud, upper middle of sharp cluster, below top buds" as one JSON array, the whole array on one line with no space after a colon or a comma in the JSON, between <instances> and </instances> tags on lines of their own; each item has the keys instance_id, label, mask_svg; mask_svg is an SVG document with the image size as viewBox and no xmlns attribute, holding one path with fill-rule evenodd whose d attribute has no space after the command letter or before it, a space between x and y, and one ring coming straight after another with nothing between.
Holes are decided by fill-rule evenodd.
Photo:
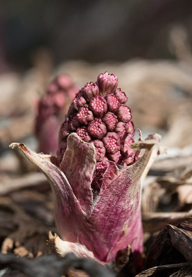
<instances>
[{"instance_id":1,"label":"large forward-facing pink bud, upper middle of sharp cluster, below top buds","mask_svg":"<svg viewBox=\"0 0 192 277\"><path fill-rule=\"evenodd\" d=\"M95 96L89 103L89 109L96 117L102 117L107 111L107 102L103 96Z\"/></svg>"}]
</instances>

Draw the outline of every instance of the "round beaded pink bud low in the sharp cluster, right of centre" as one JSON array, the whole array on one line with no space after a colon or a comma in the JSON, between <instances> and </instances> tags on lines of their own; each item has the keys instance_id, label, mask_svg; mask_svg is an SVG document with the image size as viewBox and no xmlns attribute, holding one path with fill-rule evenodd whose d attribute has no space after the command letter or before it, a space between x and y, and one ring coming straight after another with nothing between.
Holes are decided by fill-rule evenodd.
<instances>
[{"instance_id":1,"label":"round beaded pink bud low in the sharp cluster, right of centre","mask_svg":"<svg viewBox=\"0 0 192 277\"><path fill-rule=\"evenodd\" d=\"M103 143L107 153L114 154L120 150L120 139L115 132L107 133L103 138Z\"/></svg>"}]
</instances>

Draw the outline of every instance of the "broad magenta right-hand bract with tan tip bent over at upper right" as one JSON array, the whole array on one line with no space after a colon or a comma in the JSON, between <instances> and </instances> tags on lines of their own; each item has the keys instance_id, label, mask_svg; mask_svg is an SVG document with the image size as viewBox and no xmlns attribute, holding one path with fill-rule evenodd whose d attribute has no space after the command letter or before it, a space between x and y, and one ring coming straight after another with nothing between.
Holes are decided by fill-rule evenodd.
<instances>
[{"instance_id":1,"label":"broad magenta right-hand bract with tan tip bent over at upper right","mask_svg":"<svg viewBox=\"0 0 192 277\"><path fill-rule=\"evenodd\" d=\"M111 182L107 180L107 187L105 175L103 177L101 194L90 217L102 234L103 243L108 249L108 252L98 257L100 260L114 260L117 251L128 244L131 245L132 252L142 253L141 177L145 173L155 143L156 139L150 140L149 143L144 141L141 147L146 150L139 161L119 169Z\"/></svg>"}]
</instances>

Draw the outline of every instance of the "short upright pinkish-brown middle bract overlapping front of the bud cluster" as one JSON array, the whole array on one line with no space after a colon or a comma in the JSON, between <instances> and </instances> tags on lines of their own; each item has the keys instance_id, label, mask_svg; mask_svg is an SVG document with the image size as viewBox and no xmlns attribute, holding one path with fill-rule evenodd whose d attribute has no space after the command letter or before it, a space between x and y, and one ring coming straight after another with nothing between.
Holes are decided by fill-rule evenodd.
<instances>
[{"instance_id":1,"label":"short upright pinkish-brown middle bract overlapping front of the bud cluster","mask_svg":"<svg viewBox=\"0 0 192 277\"><path fill-rule=\"evenodd\" d=\"M69 135L60 170L64 172L73 193L82 209L90 213L93 195L91 181L96 167L96 150L91 143L85 143L76 133Z\"/></svg>"}]
</instances>

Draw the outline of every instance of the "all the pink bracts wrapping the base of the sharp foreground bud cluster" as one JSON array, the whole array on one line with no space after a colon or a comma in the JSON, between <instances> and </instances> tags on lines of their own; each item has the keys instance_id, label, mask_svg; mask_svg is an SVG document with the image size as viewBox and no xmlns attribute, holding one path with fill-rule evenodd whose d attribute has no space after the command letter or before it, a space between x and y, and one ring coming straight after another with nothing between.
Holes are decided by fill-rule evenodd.
<instances>
[{"instance_id":1,"label":"all the pink bracts wrapping the base of the sharp foreground bud cluster","mask_svg":"<svg viewBox=\"0 0 192 277\"><path fill-rule=\"evenodd\" d=\"M134 143L143 153L132 166L118 167L101 161L103 180L94 197L91 182L96 168L93 143L85 143L75 133L67 140L60 166L29 150L24 144L12 143L49 179L55 197L55 222L65 242L85 246L97 260L111 262L128 244L135 258L143 251L141 224L141 180L159 136ZM105 166L106 163L106 166ZM77 243L77 244L76 244ZM71 251L74 247L71 245Z\"/></svg>"}]
</instances>

